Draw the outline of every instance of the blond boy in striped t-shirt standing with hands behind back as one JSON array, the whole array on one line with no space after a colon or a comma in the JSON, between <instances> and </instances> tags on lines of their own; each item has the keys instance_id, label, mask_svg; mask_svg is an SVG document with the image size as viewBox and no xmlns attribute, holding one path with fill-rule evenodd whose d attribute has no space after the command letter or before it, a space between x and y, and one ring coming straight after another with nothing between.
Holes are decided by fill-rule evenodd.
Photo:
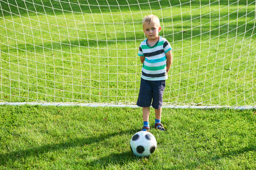
<instances>
[{"instance_id":1,"label":"blond boy in striped t-shirt standing with hands behind back","mask_svg":"<svg viewBox=\"0 0 256 170\"><path fill-rule=\"evenodd\" d=\"M158 35L161 27L156 15L147 15L143 19L142 25L147 39L141 42L138 51L138 56L143 63L137 101L137 105L142 107L143 113L141 131L150 129L148 122L150 106L155 109L155 128L164 131L163 124L161 124L161 111L165 80L168 79L167 73L172 64L172 47L165 38Z\"/></svg>"}]
</instances>

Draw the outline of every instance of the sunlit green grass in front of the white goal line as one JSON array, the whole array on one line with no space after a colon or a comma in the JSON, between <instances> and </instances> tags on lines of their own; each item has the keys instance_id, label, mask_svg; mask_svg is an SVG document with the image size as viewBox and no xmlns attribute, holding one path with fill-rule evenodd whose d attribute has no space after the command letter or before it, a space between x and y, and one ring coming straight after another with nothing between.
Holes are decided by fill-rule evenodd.
<instances>
[{"instance_id":1,"label":"sunlit green grass in front of the white goal line","mask_svg":"<svg viewBox=\"0 0 256 170\"><path fill-rule=\"evenodd\" d=\"M157 149L147 158L129 141L141 109L0 107L0 169L238 170L256 167L255 110L163 109L166 132L151 129ZM153 127L151 112L150 126Z\"/></svg>"}]
</instances>

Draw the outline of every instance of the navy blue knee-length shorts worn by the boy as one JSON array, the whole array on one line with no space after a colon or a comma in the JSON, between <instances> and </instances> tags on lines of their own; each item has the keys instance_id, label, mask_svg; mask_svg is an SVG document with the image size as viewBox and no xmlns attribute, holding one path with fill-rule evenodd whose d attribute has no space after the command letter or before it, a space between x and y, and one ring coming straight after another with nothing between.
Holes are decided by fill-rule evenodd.
<instances>
[{"instance_id":1,"label":"navy blue knee-length shorts worn by the boy","mask_svg":"<svg viewBox=\"0 0 256 170\"><path fill-rule=\"evenodd\" d=\"M165 80L150 81L141 78L137 105L139 107L152 106L154 109L160 109L163 104L164 88Z\"/></svg>"}]
</instances>

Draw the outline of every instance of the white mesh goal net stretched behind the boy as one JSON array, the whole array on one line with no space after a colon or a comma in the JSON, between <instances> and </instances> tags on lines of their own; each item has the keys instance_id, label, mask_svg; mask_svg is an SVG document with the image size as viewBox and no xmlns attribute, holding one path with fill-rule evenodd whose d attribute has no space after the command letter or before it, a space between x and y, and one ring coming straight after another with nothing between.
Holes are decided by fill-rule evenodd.
<instances>
[{"instance_id":1,"label":"white mesh goal net stretched behind the boy","mask_svg":"<svg viewBox=\"0 0 256 170\"><path fill-rule=\"evenodd\" d=\"M173 50L164 106L256 105L255 0L0 0L0 102L136 105L142 19Z\"/></svg>"}]
</instances>

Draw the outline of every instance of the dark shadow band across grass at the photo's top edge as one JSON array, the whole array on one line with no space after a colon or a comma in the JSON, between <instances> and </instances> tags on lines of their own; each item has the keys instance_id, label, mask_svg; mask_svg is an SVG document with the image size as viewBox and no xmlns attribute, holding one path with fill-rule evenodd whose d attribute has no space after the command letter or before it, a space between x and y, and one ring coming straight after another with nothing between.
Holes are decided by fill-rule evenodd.
<instances>
[{"instance_id":1,"label":"dark shadow band across grass at the photo's top edge","mask_svg":"<svg viewBox=\"0 0 256 170\"><path fill-rule=\"evenodd\" d=\"M240 5L246 5L250 2L248 0L239 0ZM107 3L108 2L108 3ZM145 3L146 2L146 3ZM84 1L84 0L69 0L65 1L42 1L33 0L30 1L0 1L2 13L4 15L36 15L36 13L47 13L48 15L59 15L64 14L64 12L73 11L76 13L135 13L135 11L148 11L159 10L165 8L198 8L201 6L208 6L209 0L200 0L200 2L189 3L189 1L170 1L161 0L157 2L156 0L148 0L143 3L138 4L138 0L97 0L97 1ZM210 3L209 6L217 6L219 3ZM234 3L236 5L237 3ZM221 1L220 5L229 5L226 1ZM253 4L252 4L253 5ZM12 13L10 13L12 11ZM2 16L0 13L0 16Z\"/></svg>"}]
</instances>

